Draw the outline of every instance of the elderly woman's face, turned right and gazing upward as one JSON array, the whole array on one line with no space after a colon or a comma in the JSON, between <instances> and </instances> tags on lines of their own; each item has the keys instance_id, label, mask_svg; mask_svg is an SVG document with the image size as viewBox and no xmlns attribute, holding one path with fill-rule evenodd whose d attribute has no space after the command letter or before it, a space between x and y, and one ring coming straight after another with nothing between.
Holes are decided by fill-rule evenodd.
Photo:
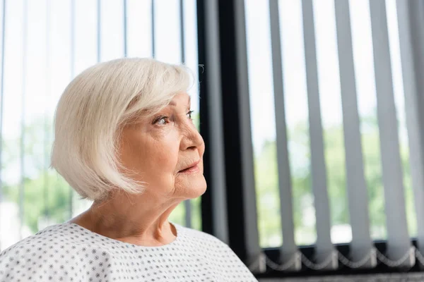
<instances>
[{"instance_id":1,"label":"elderly woman's face, turned right and gazing upward","mask_svg":"<svg viewBox=\"0 0 424 282\"><path fill-rule=\"evenodd\" d=\"M146 193L161 200L186 200L206 190L204 141L191 119L190 97L177 94L157 114L128 125L122 133L120 159L146 183Z\"/></svg>"}]
</instances>

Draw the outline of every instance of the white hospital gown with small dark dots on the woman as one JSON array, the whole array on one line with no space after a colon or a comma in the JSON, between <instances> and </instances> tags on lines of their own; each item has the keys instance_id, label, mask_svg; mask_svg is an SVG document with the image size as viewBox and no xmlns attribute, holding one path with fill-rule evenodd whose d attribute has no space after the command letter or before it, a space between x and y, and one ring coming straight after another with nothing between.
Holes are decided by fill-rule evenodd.
<instances>
[{"instance_id":1,"label":"white hospital gown with small dark dots on the woman","mask_svg":"<svg viewBox=\"0 0 424 282\"><path fill-rule=\"evenodd\" d=\"M160 247L123 243L75 223L45 228L0 254L0 282L257 281L217 238L174 224Z\"/></svg>"}]
</instances>

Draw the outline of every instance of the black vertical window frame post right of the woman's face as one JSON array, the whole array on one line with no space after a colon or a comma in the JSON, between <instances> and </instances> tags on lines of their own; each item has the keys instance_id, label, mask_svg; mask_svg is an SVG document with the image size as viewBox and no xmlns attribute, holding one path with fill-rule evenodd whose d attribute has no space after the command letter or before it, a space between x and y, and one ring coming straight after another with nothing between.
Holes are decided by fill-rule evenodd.
<instances>
[{"instance_id":1,"label":"black vertical window frame post right of the woman's face","mask_svg":"<svg viewBox=\"0 0 424 282\"><path fill-rule=\"evenodd\" d=\"M237 0L235 0L237 1ZM230 247L245 261L246 219L244 216L242 185L242 152L240 134L240 85L237 84L237 46L235 42L235 3L234 0L218 1L220 32L220 75L223 97L224 155L228 210L228 235ZM248 95L248 93L245 93Z\"/></svg>"}]
</instances>

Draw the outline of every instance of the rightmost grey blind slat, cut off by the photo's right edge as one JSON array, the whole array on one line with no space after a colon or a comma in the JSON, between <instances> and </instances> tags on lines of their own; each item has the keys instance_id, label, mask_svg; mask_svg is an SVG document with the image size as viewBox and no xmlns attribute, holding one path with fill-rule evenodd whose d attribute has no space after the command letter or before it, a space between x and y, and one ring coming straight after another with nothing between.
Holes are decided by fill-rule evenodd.
<instances>
[{"instance_id":1,"label":"rightmost grey blind slat, cut off by the photo's right edge","mask_svg":"<svg viewBox=\"0 0 424 282\"><path fill-rule=\"evenodd\" d=\"M401 66L404 79L409 161L417 216L418 249L424 254L424 5L397 1Z\"/></svg>"}]
</instances>

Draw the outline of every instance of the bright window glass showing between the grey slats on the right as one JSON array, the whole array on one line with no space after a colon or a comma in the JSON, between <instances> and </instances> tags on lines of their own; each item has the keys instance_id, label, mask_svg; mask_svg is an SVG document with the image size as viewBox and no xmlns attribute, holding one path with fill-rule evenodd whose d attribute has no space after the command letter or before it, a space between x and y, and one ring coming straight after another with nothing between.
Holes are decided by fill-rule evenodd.
<instances>
[{"instance_id":1,"label":"bright window glass showing between the grey slats on the right","mask_svg":"<svg viewBox=\"0 0 424 282\"><path fill-rule=\"evenodd\" d=\"M319 3L318 3L319 2ZM305 48L302 2L280 0L279 17L283 66L285 121L293 189L293 216L297 245L312 245L316 240L314 197L311 183L311 152L308 121ZM371 235L387 238L384 190L380 159L377 98L370 5L367 0L350 1L353 63L360 115L365 177L369 197ZM322 113L327 191L330 202L331 241L350 243L348 195L346 194L345 142L339 79L338 46L334 1L314 1L314 35L317 49L319 99ZM252 116L252 142L257 189L257 209L261 247L281 245L279 220L276 123L273 99L269 1L245 1L247 59ZM416 235L411 176L409 175L404 91L402 86L396 4L387 1L391 64L399 138L406 188L406 208L410 235ZM276 109L278 111L278 108ZM284 228L284 226L283 226Z\"/></svg>"}]
</instances>

